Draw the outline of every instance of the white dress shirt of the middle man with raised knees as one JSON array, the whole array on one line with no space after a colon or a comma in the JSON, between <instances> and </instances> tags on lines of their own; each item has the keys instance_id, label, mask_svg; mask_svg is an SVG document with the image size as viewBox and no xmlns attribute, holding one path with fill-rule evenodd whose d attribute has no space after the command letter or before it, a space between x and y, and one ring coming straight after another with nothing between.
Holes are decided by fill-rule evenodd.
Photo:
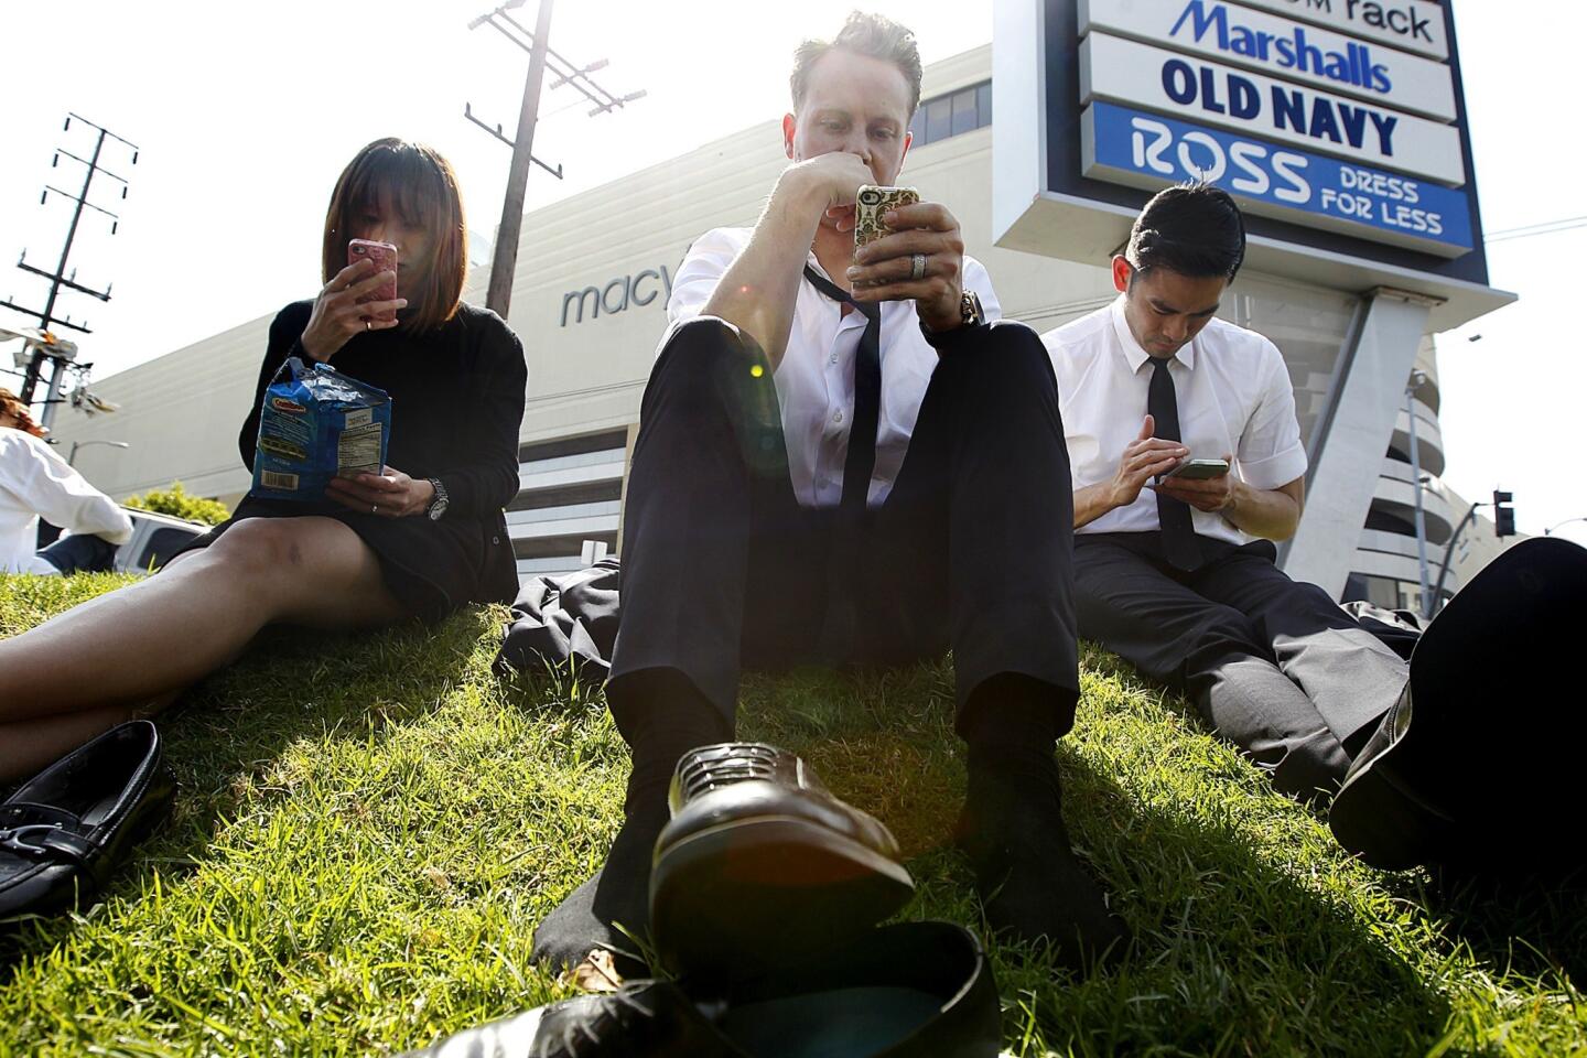
<instances>
[{"instance_id":1,"label":"white dress shirt of the middle man with raised knees","mask_svg":"<svg viewBox=\"0 0 1587 1058\"><path fill-rule=\"evenodd\" d=\"M749 244L751 233L751 228L713 228L695 240L673 278L668 320L694 319L705 309L717 279ZM825 276L814 254L808 263ZM981 298L987 322L1000 319L992 279L971 257L965 257L963 286ZM870 506L878 506L892 492L925 387L936 370L936 349L920 333L914 301L882 301L881 309L882 393ZM843 498L843 460L849 452L849 420L854 417L854 362L863 333L865 316L844 314L836 301L809 282L800 282L794 327L774 381L789 450L789 477L801 506L835 508Z\"/></svg>"}]
</instances>

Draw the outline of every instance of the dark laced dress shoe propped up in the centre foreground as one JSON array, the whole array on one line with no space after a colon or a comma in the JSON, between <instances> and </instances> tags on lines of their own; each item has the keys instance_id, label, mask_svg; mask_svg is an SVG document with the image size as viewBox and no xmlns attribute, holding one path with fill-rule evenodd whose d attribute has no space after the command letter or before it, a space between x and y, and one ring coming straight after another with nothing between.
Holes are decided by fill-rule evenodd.
<instances>
[{"instance_id":1,"label":"dark laced dress shoe propped up in the centre foreground","mask_svg":"<svg viewBox=\"0 0 1587 1058\"><path fill-rule=\"evenodd\" d=\"M798 757L727 742L684 753L655 841L651 937L662 966L744 976L832 949L914 893L881 822Z\"/></svg>"}]
</instances>

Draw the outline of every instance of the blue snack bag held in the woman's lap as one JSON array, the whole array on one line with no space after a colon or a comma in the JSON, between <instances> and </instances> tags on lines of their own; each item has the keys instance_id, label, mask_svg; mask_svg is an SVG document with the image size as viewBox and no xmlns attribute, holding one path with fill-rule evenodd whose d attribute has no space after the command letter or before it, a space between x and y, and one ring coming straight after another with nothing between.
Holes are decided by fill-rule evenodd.
<instances>
[{"instance_id":1,"label":"blue snack bag held in the woman's lap","mask_svg":"<svg viewBox=\"0 0 1587 1058\"><path fill-rule=\"evenodd\" d=\"M336 368L289 357L265 389L254 452L254 495L319 500L332 477L381 473L392 401Z\"/></svg>"}]
</instances>

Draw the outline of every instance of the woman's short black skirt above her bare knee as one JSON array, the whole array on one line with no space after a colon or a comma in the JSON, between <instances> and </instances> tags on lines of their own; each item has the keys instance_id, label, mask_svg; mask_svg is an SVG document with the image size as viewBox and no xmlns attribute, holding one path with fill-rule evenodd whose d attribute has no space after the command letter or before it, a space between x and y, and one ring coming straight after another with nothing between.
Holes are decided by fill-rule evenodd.
<instances>
[{"instance_id":1,"label":"woman's short black skirt above her bare knee","mask_svg":"<svg viewBox=\"0 0 1587 1058\"><path fill-rule=\"evenodd\" d=\"M176 554L208 547L244 519L319 516L341 522L375 552L381 581L409 614L440 620L467 603L511 603L517 595L517 566L506 519L494 523L471 517L424 516L387 519L349 511L336 503L298 503L243 496L230 519L195 536Z\"/></svg>"}]
</instances>

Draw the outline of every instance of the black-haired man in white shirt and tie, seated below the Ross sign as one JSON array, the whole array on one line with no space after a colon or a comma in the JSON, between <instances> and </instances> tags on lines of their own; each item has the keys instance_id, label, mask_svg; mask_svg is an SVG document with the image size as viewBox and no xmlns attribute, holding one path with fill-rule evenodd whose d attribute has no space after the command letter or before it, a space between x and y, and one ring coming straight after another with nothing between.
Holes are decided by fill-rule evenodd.
<instances>
[{"instance_id":1,"label":"black-haired man in white shirt and tie, seated below the Ross sign","mask_svg":"<svg viewBox=\"0 0 1587 1058\"><path fill-rule=\"evenodd\" d=\"M1112 259L1117 300L1043 335L1073 471L1076 611L1081 636L1185 692L1279 790L1316 799L1339 788L1408 665L1274 566L1306 454L1282 354L1214 316L1244 247L1225 192L1170 187ZM1163 477L1187 458L1232 470Z\"/></svg>"}]
</instances>

